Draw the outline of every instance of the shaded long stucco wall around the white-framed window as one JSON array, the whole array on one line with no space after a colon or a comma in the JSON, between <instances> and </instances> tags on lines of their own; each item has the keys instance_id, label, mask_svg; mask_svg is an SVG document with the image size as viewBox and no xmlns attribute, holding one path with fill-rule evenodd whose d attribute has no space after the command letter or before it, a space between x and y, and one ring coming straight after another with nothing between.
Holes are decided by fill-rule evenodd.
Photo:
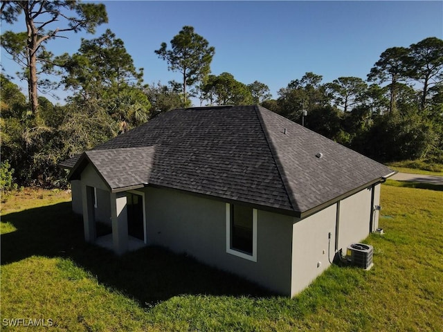
<instances>
[{"instance_id":1,"label":"shaded long stucco wall around the white-framed window","mask_svg":"<svg viewBox=\"0 0 443 332\"><path fill-rule=\"evenodd\" d=\"M257 261L226 252L226 203L145 188L147 240L289 295L293 218L257 211Z\"/></svg>"}]
</instances>

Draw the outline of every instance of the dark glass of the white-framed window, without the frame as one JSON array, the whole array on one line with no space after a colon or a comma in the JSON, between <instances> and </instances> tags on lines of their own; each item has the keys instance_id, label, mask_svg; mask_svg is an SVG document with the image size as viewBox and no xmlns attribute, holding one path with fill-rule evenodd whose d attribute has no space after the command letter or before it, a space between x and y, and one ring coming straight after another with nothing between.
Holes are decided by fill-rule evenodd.
<instances>
[{"instance_id":1,"label":"dark glass of the white-framed window, without the frame","mask_svg":"<svg viewBox=\"0 0 443 332\"><path fill-rule=\"evenodd\" d=\"M230 205L230 245L232 249L253 254L252 208Z\"/></svg>"}]
</instances>

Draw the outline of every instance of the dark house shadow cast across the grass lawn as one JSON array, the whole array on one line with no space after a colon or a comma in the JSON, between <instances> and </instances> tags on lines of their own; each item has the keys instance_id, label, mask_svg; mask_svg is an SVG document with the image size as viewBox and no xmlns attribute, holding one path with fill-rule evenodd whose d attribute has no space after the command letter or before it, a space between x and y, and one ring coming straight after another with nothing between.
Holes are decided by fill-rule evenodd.
<instances>
[{"instance_id":1,"label":"dark house shadow cast across the grass lawn","mask_svg":"<svg viewBox=\"0 0 443 332\"><path fill-rule=\"evenodd\" d=\"M13 212L1 219L17 229L1 235L1 265L35 255L68 258L101 284L136 299L141 306L150 307L176 295L275 295L163 248L145 247L118 257L86 243L82 217L71 212L70 202Z\"/></svg>"}]
</instances>

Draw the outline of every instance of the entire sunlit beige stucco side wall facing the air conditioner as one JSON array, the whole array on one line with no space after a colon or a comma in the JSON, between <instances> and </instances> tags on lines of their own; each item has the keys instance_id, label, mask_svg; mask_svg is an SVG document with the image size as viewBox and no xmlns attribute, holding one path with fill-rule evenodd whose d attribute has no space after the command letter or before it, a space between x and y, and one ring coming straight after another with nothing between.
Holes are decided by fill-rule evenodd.
<instances>
[{"instance_id":1,"label":"entire sunlit beige stucco side wall facing the air conditioner","mask_svg":"<svg viewBox=\"0 0 443 332\"><path fill-rule=\"evenodd\" d=\"M329 259L333 261L336 251L343 250L345 255L347 246L368 237L371 199L372 187L369 187L293 224L291 296L300 293L331 265L328 250ZM374 205L379 201L380 185L376 185ZM374 212L374 230L378 227L378 218L378 212Z\"/></svg>"}]
</instances>

